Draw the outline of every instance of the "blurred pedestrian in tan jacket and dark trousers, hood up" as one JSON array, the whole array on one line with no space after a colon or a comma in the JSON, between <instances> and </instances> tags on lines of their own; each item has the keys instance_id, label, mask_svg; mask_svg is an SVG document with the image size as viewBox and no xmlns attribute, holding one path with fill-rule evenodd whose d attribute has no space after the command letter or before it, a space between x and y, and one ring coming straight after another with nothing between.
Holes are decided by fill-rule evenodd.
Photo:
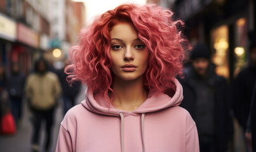
<instances>
[{"instance_id":1,"label":"blurred pedestrian in tan jacket and dark trousers, hood up","mask_svg":"<svg viewBox=\"0 0 256 152\"><path fill-rule=\"evenodd\" d=\"M58 76L49 71L48 63L39 58L34 63L34 73L31 73L25 85L29 107L32 111L32 151L39 151L39 139L42 122L46 122L44 150L50 150L51 129L53 126L54 110L60 98L60 82Z\"/></svg>"}]
</instances>

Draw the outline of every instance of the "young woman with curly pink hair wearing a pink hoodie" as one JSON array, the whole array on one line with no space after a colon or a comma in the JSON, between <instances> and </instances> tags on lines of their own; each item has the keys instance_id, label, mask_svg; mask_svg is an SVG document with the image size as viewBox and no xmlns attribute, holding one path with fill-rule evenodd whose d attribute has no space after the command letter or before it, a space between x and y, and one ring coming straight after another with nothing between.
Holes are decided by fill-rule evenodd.
<instances>
[{"instance_id":1,"label":"young woman with curly pink hair wearing a pink hoodie","mask_svg":"<svg viewBox=\"0 0 256 152\"><path fill-rule=\"evenodd\" d=\"M81 31L66 71L88 88L65 115L56 151L199 151L196 125L179 107L187 41L172 15L123 4Z\"/></svg>"}]
</instances>

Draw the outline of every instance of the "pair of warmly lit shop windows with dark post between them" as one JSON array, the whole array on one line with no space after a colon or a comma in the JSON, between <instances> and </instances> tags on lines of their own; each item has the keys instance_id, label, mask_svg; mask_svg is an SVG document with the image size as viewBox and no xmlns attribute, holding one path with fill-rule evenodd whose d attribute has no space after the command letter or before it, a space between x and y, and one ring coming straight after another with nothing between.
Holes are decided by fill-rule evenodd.
<instances>
[{"instance_id":1,"label":"pair of warmly lit shop windows with dark post between them","mask_svg":"<svg viewBox=\"0 0 256 152\"><path fill-rule=\"evenodd\" d=\"M216 72L232 80L248 62L248 27L246 16L234 18L231 24L225 23L210 31L213 48L213 63Z\"/></svg>"}]
</instances>

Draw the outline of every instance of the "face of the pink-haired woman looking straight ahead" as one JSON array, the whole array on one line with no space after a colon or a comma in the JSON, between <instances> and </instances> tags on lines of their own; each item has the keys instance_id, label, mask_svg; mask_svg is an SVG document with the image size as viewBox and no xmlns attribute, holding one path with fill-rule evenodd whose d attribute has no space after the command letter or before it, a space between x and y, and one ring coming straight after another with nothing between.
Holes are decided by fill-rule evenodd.
<instances>
[{"instance_id":1,"label":"face of the pink-haired woman looking straight ahead","mask_svg":"<svg viewBox=\"0 0 256 152\"><path fill-rule=\"evenodd\" d=\"M123 80L143 77L147 70L149 51L131 23L118 23L111 32L112 72Z\"/></svg>"}]
</instances>

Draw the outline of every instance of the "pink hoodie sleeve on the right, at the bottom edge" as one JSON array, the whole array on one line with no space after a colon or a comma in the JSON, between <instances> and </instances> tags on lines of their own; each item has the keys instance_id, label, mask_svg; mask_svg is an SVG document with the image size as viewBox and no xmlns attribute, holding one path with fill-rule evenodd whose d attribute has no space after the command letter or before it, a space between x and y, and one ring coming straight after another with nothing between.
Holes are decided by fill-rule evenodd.
<instances>
[{"instance_id":1,"label":"pink hoodie sleeve on the right, at the bottom edge","mask_svg":"<svg viewBox=\"0 0 256 152\"><path fill-rule=\"evenodd\" d=\"M187 132L185 137L185 151L199 152L198 130L196 125Z\"/></svg>"}]
</instances>

